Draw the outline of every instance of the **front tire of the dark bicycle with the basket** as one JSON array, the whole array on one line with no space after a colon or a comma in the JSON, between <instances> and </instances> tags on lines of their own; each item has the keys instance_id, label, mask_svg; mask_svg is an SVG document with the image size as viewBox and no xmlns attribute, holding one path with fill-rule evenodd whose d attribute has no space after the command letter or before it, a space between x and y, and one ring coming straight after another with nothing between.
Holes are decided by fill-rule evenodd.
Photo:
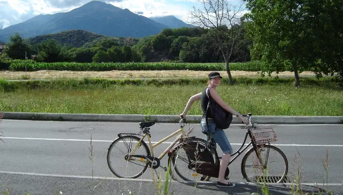
<instances>
[{"instance_id":1,"label":"front tire of the dark bicycle with the basket","mask_svg":"<svg viewBox=\"0 0 343 195\"><path fill-rule=\"evenodd\" d=\"M261 147L263 145L263 147ZM269 151L270 151L270 149L273 149L273 150L275 150L277 153L279 153L280 155L281 155L281 157L282 157L282 159L283 159L283 161L285 162L285 170L284 170L284 173L283 173L283 175L280 177L280 176L278 176L278 177L280 177L279 179L277 179L277 182L276 183L281 183L281 182L283 182L283 180L286 178L286 176L287 176L287 173L288 173L288 160L287 160L287 157L286 157L286 155L285 155L285 153L282 151L282 150L280 150L279 148L277 148L277 147L275 147L275 146L273 146L273 145L267 145L267 144L260 144L260 145L258 145L258 149L261 149L261 148L269 148ZM254 152L254 153L253 153ZM250 157L250 155L253 153L253 155L255 154L255 157L256 157L256 152L255 152L255 150L254 150L254 147L252 147L252 148L250 148L246 153L245 153L245 155L244 155L244 157L243 157L243 159L242 159L242 163L241 163L241 172L242 172L242 175L243 175L243 178L245 178L245 180L247 181L247 182L252 182L252 183L259 183L259 182L257 182L257 181L253 181L250 177L248 177L247 176L247 174L246 174L246 170L245 170L245 167L246 167L246 160L248 159L248 157ZM268 153L268 159L269 159L269 154L270 153ZM264 163L264 162L263 162ZM279 164L278 164L279 165ZM256 169L256 168L255 168ZM268 171L268 173L269 173L269 170L267 170ZM265 171L263 170L263 173L265 173ZM268 175L269 176L269 175ZM263 177L263 175L261 175L261 176L256 176L256 177ZM278 177L273 177L273 178L278 178ZM262 181L263 180L263 181ZM267 180L268 179L262 179L261 180L261 182L266 182L266 183L269 183L269 182L267 182ZM270 183L275 183L275 182L270 182Z\"/></svg>"}]
</instances>

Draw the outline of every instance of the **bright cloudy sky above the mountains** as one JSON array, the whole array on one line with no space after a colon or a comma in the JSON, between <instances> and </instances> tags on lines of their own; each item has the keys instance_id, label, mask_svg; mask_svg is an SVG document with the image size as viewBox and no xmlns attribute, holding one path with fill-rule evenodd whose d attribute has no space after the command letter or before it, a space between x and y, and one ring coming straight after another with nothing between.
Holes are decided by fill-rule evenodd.
<instances>
[{"instance_id":1,"label":"bright cloudy sky above the mountains","mask_svg":"<svg viewBox=\"0 0 343 195\"><path fill-rule=\"evenodd\" d=\"M0 0L0 29L24 22L39 14L69 12L91 0ZM197 0L99 0L145 17L174 15L186 21ZM231 0L232 2L238 0Z\"/></svg>"}]
</instances>

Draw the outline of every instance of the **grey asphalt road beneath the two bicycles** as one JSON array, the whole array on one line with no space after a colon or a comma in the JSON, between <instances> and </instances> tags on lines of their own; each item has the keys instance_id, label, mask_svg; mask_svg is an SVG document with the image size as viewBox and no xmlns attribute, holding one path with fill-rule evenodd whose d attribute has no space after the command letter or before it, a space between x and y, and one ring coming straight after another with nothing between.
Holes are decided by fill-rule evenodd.
<instances>
[{"instance_id":1,"label":"grey asphalt road beneath the two bicycles","mask_svg":"<svg viewBox=\"0 0 343 195\"><path fill-rule=\"evenodd\" d=\"M191 124L192 136L204 137L198 124ZM328 189L334 194L343 194L343 125L261 125L273 128L278 141L273 143L287 156L289 179L295 173L295 157L301 159L301 182L313 185L323 183L325 169L322 162L326 151L329 157ZM179 124L155 124L151 127L151 141L156 142L179 128ZM186 126L186 130L189 126ZM117 133L138 133L138 123L113 122L49 122L3 120L0 131L5 137L0 142L0 194L9 189L10 194L91 194L94 186L101 182L95 194L121 194L127 189L139 191L134 194L153 194L152 174L148 169L141 177L121 180L107 166L106 155L110 143ZM240 147L245 130L232 125L226 133L234 150ZM90 136L92 138L92 157ZM167 140L171 142L172 140ZM168 144L159 145L154 151L160 154ZM222 151L218 147L221 155ZM299 152L299 153L298 153ZM245 182L240 172L241 157L230 165L230 179ZM167 156L161 161L167 166ZM93 177L100 177L98 180ZM162 169L162 179L166 173ZM106 178L106 179L105 179ZM237 187L221 189L212 182L194 184L172 182L174 194L251 194L257 186L238 183ZM273 186L273 194L288 194L283 185ZM304 190L316 190L303 186ZM48 192L47 192L48 191Z\"/></svg>"}]
</instances>

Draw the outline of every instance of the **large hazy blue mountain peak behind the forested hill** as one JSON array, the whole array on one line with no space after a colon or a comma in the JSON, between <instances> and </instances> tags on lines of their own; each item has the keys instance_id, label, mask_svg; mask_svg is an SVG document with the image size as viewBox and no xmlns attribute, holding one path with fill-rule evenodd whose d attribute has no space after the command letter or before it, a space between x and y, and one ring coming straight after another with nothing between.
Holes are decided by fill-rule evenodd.
<instances>
[{"instance_id":1,"label":"large hazy blue mountain peak behind the forested hill","mask_svg":"<svg viewBox=\"0 0 343 195\"><path fill-rule=\"evenodd\" d=\"M15 32L24 37L57 33L66 30L86 30L106 36L144 37L161 32L168 26L144 16L99 1L89 2L70 12L38 15L0 31L8 38Z\"/></svg>"}]
</instances>

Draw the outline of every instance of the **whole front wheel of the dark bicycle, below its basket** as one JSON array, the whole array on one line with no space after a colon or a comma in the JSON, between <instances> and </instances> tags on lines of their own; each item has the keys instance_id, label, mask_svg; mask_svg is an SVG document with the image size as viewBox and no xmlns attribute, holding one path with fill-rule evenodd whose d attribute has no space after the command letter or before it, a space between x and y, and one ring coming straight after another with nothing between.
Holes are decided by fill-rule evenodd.
<instances>
[{"instance_id":1,"label":"whole front wheel of the dark bicycle, below its basket","mask_svg":"<svg viewBox=\"0 0 343 195\"><path fill-rule=\"evenodd\" d=\"M241 164L243 178L253 183L283 182L288 173L288 161L284 152L266 144L258 145L257 150L258 152L252 147L244 155Z\"/></svg>"}]
</instances>

